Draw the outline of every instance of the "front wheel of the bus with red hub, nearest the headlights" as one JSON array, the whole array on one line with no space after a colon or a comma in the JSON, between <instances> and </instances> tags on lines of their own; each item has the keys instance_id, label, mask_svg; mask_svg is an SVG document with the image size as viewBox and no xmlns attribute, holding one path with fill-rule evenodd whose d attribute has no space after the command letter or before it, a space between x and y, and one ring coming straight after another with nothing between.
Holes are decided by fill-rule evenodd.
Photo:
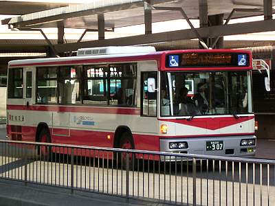
<instances>
[{"instance_id":1,"label":"front wheel of the bus with red hub, nearest the headlights","mask_svg":"<svg viewBox=\"0 0 275 206\"><path fill-rule=\"evenodd\" d=\"M118 147L122 149L129 149L129 150L135 149L133 138L129 132L122 133ZM118 163L123 169L126 169L126 152L118 153ZM129 153L129 170L133 170L133 168L135 169L136 164L137 164L137 159L135 159L135 155L133 153Z\"/></svg>"}]
</instances>

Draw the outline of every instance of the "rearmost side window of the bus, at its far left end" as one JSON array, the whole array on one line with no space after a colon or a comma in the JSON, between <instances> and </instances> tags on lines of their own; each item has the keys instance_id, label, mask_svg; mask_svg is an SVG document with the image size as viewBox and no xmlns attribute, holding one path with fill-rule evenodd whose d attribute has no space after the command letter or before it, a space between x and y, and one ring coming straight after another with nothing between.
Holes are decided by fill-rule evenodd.
<instances>
[{"instance_id":1,"label":"rearmost side window of the bus, at its far left end","mask_svg":"<svg viewBox=\"0 0 275 206\"><path fill-rule=\"evenodd\" d=\"M8 98L23 98L23 69L9 69Z\"/></svg>"}]
</instances>

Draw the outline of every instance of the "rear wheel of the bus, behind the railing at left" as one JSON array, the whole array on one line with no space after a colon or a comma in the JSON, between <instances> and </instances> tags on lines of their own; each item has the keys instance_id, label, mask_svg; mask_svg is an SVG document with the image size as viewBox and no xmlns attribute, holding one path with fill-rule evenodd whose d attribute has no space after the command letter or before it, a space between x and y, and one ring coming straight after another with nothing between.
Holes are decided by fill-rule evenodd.
<instances>
[{"instance_id":1,"label":"rear wheel of the bus, behind the railing at left","mask_svg":"<svg viewBox=\"0 0 275 206\"><path fill-rule=\"evenodd\" d=\"M51 135L47 128L43 128L39 133L39 142L40 143L51 143ZM52 147L51 146L38 146L37 150L38 155L41 155L41 159L45 161L50 161L52 156Z\"/></svg>"}]
</instances>

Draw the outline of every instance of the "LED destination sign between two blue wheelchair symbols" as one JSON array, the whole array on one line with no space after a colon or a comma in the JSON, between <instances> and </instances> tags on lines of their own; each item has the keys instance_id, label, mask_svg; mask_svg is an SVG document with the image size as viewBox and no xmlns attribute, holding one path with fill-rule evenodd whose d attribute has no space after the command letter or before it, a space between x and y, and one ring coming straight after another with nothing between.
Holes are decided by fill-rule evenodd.
<instances>
[{"instance_id":1,"label":"LED destination sign between two blue wheelchair symbols","mask_svg":"<svg viewBox=\"0 0 275 206\"><path fill-rule=\"evenodd\" d=\"M166 67L247 67L248 54L184 53L166 56Z\"/></svg>"}]
</instances>

